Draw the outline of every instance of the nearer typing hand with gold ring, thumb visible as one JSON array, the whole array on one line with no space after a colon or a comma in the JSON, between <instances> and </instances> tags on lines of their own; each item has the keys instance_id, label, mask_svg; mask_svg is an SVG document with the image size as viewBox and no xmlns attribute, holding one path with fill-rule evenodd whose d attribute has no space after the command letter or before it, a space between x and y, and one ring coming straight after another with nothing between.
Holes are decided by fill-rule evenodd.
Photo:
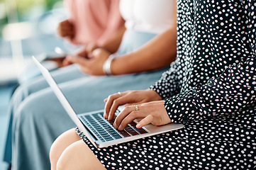
<instances>
[{"instance_id":1,"label":"nearer typing hand with gold ring, thumb visible","mask_svg":"<svg viewBox=\"0 0 256 170\"><path fill-rule=\"evenodd\" d=\"M136 128L142 128L150 123L153 125L172 123L165 110L164 101L152 101L135 106L126 106L116 117L113 126L118 130L123 130L128 123L140 118L142 120L136 125Z\"/></svg>"}]
</instances>

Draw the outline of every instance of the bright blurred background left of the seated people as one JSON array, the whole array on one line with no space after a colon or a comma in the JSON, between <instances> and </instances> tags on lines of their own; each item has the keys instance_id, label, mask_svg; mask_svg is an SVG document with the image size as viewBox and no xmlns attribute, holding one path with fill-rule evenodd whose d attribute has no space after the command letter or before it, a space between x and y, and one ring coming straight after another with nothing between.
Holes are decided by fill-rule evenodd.
<instances>
[{"instance_id":1,"label":"bright blurred background left of the seated people","mask_svg":"<svg viewBox=\"0 0 256 170\"><path fill-rule=\"evenodd\" d=\"M66 18L61 0L0 0L0 169L7 169L2 162L7 110L18 75L32 55L72 47L56 35L57 24Z\"/></svg>"}]
</instances>

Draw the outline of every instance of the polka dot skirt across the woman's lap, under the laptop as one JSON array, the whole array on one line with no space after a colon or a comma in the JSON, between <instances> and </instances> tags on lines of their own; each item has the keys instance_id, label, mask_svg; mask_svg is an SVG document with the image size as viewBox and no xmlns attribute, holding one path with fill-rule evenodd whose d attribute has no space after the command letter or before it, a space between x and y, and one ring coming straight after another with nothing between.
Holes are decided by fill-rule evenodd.
<instances>
[{"instance_id":1,"label":"polka dot skirt across the woman's lap, under the laptop","mask_svg":"<svg viewBox=\"0 0 256 170\"><path fill-rule=\"evenodd\" d=\"M107 169L253 169L255 120L255 111L247 111L102 149L96 149L86 137L84 142Z\"/></svg>"}]
</instances>

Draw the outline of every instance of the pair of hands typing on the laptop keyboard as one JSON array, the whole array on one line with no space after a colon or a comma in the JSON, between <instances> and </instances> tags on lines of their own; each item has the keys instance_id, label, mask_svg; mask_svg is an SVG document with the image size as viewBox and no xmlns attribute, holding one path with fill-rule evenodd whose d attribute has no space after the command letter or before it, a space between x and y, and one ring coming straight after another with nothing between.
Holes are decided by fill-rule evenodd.
<instances>
[{"instance_id":1,"label":"pair of hands typing on the laptop keyboard","mask_svg":"<svg viewBox=\"0 0 256 170\"><path fill-rule=\"evenodd\" d=\"M113 94L108 96L105 100L106 106L104 117L111 120L114 111L116 111L118 106L126 103L133 103L132 105L125 107L123 111L118 114L113 123L115 128L123 130L128 123L138 118L141 118L142 120L136 125L137 128L142 128L150 123L153 125L166 125L172 121L165 110L164 101L161 100L162 98L159 94L152 90L126 91L121 94Z\"/></svg>"}]
</instances>

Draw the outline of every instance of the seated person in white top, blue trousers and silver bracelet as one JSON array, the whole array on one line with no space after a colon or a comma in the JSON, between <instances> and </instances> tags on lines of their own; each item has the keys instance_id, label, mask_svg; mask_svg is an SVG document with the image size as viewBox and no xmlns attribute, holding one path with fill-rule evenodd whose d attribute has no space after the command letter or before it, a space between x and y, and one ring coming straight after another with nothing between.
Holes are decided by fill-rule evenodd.
<instances>
[{"instance_id":1,"label":"seated person in white top, blue trousers and silver bracelet","mask_svg":"<svg viewBox=\"0 0 256 170\"><path fill-rule=\"evenodd\" d=\"M105 96L116 91L145 89L159 79L176 58L174 7L174 1L169 0L121 0L121 14L126 20L121 36L94 50L92 58L87 57L87 50L79 54L84 54L81 57L67 58L68 62L79 63L78 67L72 64L72 69L63 67L52 72L77 113L104 108ZM87 105L86 101L93 102ZM10 111L12 168L50 169L52 142L74 124L45 79L39 77L21 84L13 94Z\"/></svg>"}]
</instances>

